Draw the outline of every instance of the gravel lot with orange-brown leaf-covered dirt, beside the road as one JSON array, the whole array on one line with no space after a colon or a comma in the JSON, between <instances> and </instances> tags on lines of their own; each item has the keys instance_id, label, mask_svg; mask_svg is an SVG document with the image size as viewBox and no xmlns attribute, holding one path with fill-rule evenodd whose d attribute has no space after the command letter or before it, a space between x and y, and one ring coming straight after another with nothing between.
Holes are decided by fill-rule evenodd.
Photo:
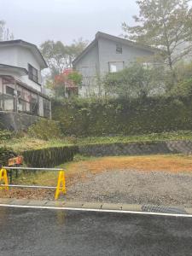
<instances>
[{"instance_id":1,"label":"gravel lot with orange-brown leaf-covered dirt, beside the road","mask_svg":"<svg viewBox=\"0 0 192 256\"><path fill-rule=\"evenodd\" d=\"M60 200L192 207L192 156L151 155L81 160L67 169L67 195ZM38 173L17 183L55 185L56 175ZM49 199L53 190L0 190L0 197Z\"/></svg>"}]
</instances>

